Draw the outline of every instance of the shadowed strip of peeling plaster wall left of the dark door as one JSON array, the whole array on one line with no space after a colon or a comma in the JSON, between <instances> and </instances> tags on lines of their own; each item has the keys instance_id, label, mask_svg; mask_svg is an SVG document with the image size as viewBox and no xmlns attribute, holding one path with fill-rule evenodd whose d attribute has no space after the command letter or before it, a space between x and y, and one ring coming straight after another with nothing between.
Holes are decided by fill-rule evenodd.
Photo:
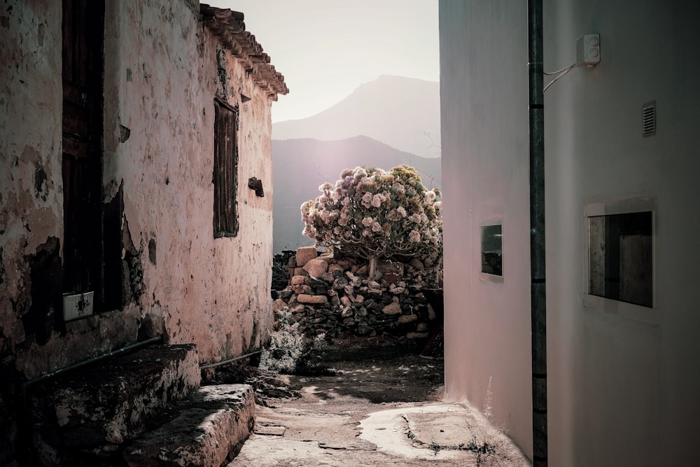
<instances>
[{"instance_id":1,"label":"shadowed strip of peeling plaster wall left of the dark door","mask_svg":"<svg viewBox=\"0 0 700 467\"><path fill-rule=\"evenodd\" d=\"M0 365L8 371L32 339L22 323L32 257L63 230L60 18L48 0L0 11Z\"/></svg>"}]
</instances>

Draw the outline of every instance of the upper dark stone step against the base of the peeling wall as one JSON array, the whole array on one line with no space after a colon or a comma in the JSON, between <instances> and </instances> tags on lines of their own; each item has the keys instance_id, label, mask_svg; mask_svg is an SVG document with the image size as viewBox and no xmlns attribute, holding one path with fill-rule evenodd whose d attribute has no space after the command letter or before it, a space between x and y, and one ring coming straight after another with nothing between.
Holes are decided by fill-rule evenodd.
<instances>
[{"instance_id":1,"label":"upper dark stone step against the base of the peeling wall","mask_svg":"<svg viewBox=\"0 0 700 467\"><path fill-rule=\"evenodd\" d=\"M116 451L146 419L200 386L195 344L152 345L31 386L27 393L41 465L68 465L71 452Z\"/></svg>"}]
</instances>

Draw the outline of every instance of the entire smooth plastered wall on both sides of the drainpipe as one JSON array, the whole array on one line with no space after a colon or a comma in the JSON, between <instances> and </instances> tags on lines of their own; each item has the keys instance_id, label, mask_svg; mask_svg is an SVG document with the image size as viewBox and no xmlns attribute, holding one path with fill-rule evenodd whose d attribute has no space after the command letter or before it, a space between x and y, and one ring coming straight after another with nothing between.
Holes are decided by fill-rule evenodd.
<instances>
[{"instance_id":1,"label":"entire smooth plastered wall on both sides of the drainpipe","mask_svg":"<svg viewBox=\"0 0 700 467\"><path fill-rule=\"evenodd\" d=\"M503 378L513 371L493 358L493 347L510 356L506 361L529 363L529 346L512 333L517 327L529 335L529 274L526 265L510 266L513 260L526 262L529 248L528 174L522 169L527 164L525 4L440 3L444 195L454 199L445 202L444 215L447 395L477 404L483 390L476 386L484 384L487 373ZM697 6L652 2L545 2L545 70L575 62L575 39L581 34L601 34L602 45L598 67L574 69L545 94L550 465L696 461L698 13ZM641 109L652 100L658 130L643 138ZM499 111L502 106L508 111ZM522 190L524 199L514 190ZM584 207L637 197L657 203L654 309L621 316L584 306ZM462 297L455 289L478 271L476 250L468 246L477 226L468 225L467 207L473 213L494 205L504 212L503 286L471 279ZM508 288L509 282L515 284ZM498 322L496 314L503 314ZM522 410L513 410L512 417L498 412L494 384L496 421L513 426L513 438L531 452L531 416L524 414L530 409L530 379L513 382L500 403Z\"/></svg>"}]
</instances>

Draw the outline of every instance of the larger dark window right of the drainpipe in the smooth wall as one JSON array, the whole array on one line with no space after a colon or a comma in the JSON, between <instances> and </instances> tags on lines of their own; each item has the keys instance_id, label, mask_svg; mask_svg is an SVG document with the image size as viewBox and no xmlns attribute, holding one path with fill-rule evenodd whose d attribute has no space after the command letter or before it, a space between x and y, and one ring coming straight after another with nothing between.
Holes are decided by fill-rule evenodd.
<instances>
[{"instance_id":1,"label":"larger dark window right of the drainpipe in the smooth wall","mask_svg":"<svg viewBox=\"0 0 700 467\"><path fill-rule=\"evenodd\" d=\"M652 211L589 216L590 295L653 306Z\"/></svg>"}]
</instances>

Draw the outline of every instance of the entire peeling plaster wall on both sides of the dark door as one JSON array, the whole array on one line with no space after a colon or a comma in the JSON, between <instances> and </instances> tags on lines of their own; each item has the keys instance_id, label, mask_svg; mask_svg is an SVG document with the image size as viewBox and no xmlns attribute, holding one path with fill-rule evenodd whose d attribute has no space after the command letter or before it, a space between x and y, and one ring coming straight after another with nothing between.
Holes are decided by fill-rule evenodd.
<instances>
[{"instance_id":1,"label":"entire peeling plaster wall on both sides of the dark door","mask_svg":"<svg viewBox=\"0 0 700 467\"><path fill-rule=\"evenodd\" d=\"M4 375L31 379L155 333L221 361L272 326L269 92L203 27L197 2L109 0L105 16L103 202L123 197L125 305L63 323L61 4L0 11L3 393ZM233 238L213 236L215 95L240 108ZM248 189L253 176L265 197Z\"/></svg>"}]
</instances>

